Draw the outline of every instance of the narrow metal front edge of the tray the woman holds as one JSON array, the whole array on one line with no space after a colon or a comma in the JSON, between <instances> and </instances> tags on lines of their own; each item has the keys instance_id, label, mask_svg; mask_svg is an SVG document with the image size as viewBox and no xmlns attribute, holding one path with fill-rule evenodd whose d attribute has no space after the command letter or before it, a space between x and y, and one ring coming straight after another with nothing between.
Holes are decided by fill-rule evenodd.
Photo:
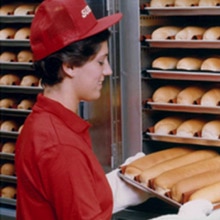
<instances>
[{"instance_id":1,"label":"narrow metal front edge of the tray the woman holds","mask_svg":"<svg viewBox=\"0 0 220 220\"><path fill-rule=\"evenodd\" d=\"M125 175L123 175L121 173L121 171L118 172L118 176L120 178L122 178L125 182L131 184L132 186L134 186L136 188L139 188L140 190L142 190L144 192L147 192L147 193L151 194L152 196L157 197L158 199L161 199L161 200L165 201L166 203L168 203L168 204L170 204L172 206L180 207L182 205L182 204L174 201L173 199L171 199L171 198L169 198L169 197L167 197L165 195L159 194L155 190L153 190L153 189L151 189L151 188L149 188L147 186L144 186L144 185L138 183L135 180L132 180L132 179L126 177Z\"/></svg>"}]
</instances>

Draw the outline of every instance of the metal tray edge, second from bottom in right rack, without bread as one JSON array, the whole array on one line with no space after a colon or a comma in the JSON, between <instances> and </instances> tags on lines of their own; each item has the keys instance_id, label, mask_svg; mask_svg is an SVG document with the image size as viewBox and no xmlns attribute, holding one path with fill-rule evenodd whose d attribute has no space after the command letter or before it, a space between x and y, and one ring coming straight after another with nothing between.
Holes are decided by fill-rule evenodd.
<instances>
[{"instance_id":1,"label":"metal tray edge, second from bottom in right rack, without bread","mask_svg":"<svg viewBox=\"0 0 220 220\"><path fill-rule=\"evenodd\" d=\"M147 102L149 108L153 110L165 110L165 111L183 111L183 112L194 112L194 113L208 113L218 114L220 113L220 106L208 107L201 105L180 105L180 104L166 104L166 103L155 103Z\"/></svg>"}]
</instances>

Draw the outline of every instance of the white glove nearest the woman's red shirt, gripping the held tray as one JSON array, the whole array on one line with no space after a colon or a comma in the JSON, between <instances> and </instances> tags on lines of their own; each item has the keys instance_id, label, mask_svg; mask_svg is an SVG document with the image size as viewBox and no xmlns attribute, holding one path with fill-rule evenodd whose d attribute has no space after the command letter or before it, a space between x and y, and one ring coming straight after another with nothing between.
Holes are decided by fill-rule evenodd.
<instances>
[{"instance_id":1,"label":"white glove nearest the woman's red shirt, gripping the held tray","mask_svg":"<svg viewBox=\"0 0 220 220\"><path fill-rule=\"evenodd\" d=\"M137 153L135 156L129 157L123 165L131 163L132 161L144 155L144 153ZM134 206L143 203L151 197L151 195L147 192L144 192L123 181L118 176L118 172L119 169L115 169L112 172L106 174L113 194L113 213L121 211L128 206Z\"/></svg>"}]
</instances>

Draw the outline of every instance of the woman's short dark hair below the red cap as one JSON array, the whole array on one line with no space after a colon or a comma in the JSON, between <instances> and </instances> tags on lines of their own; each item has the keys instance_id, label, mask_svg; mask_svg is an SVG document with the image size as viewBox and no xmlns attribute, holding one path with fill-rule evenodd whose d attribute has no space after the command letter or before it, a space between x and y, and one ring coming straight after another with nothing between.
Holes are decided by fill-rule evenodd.
<instances>
[{"instance_id":1,"label":"woman's short dark hair below the red cap","mask_svg":"<svg viewBox=\"0 0 220 220\"><path fill-rule=\"evenodd\" d=\"M54 85L63 80L64 75L61 68L63 62L69 63L73 67L80 67L93 59L100 50L100 44L108 40L109 36L109 30L102 31L36 61L35 70L41 77L42 85Z\"/></svg>"}]
</instances>

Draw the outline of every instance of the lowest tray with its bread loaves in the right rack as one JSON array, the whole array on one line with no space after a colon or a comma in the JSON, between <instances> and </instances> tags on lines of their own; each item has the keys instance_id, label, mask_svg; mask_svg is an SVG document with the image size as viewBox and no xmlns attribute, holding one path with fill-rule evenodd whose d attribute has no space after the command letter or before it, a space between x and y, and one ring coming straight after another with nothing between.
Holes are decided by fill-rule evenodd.
<instances>
[{"instance_id":1,"label":"lowest tray with its bread loaves in the right rack","mask_svg":"<svg viewBox=\"0 0 220 220\"><path fill-rule=\"evenodd\" d=\"M149 127L152 140L220 147L220 119L167 116Z\"/></svg>"}]
</instances>

